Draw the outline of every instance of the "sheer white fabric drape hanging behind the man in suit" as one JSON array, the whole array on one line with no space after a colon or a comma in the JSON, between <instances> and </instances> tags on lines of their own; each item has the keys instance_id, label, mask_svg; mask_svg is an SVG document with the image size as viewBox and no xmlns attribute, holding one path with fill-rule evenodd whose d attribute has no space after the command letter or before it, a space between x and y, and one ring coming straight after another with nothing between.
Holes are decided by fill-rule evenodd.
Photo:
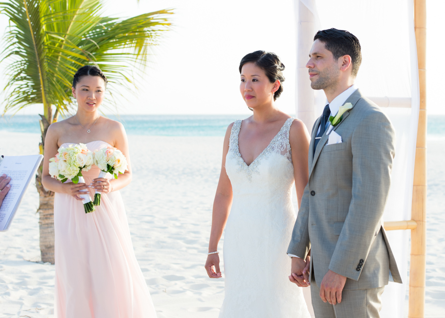
<instances>
[{"instance_id":1,"label":"sheer white fabric drape hanging behind the man in suit","mask_svg":"<svg viewBox=\"0 0 445 318\"><path fill-rule=\"evenodd\" d=\"M305 65L317 30L335 27L356 35L363 61L356 84L377 101L396 129L396 158L384 221L411 219L419 116L419 76L412 0L296 0L296 114L311 131L326 97L310 87ZM388 105L389 107L385 107ZM402 103L400 103L402 102ZM409 231L387 232L404 284L390 283L382 296L382 318L403 317L407 290Z\"/></svg>"}]
</instances>

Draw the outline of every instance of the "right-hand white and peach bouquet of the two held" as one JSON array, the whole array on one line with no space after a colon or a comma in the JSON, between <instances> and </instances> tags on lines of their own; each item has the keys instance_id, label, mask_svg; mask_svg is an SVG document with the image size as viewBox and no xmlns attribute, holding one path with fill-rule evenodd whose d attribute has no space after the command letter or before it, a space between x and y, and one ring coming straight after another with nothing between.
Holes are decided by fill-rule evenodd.
<instances>
[{"instance_id":1,"label":"right-hand white and peach bouquet of the two held","mask_svg":"<svg viewBox=\"0 0 445 318\"><path fill-rule=\"evenodd\" d=\"M114 147L96 150L94 164L100 169L98 178L105 178L107 173L111 173L114 179L117 179L119 173L123 174L127 170L127 159L120 150ZM94 194L93 204L100 205L100 192L97 190Z\"/></svg>"}]
</instances>

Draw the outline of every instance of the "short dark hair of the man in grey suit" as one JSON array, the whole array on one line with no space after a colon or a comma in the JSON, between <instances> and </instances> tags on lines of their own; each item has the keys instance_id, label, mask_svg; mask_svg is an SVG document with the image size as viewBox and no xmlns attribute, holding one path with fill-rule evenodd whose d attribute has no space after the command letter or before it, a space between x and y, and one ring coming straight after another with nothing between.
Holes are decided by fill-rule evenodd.
<instances>
[{"instance_id":1,"label":"short dark hair of the man in grey suit","mask_svg":"<svg viewBox=\"0 0 445 318\"><path fill-rule=\"evenodd\" d=\"M352 75L357 76L361 64L361 46L354 34L332 28L318 31L313 40L323 42L326 49L332 52L335 60L343 55L351 56Z\"/></svg>"}]
</instances>

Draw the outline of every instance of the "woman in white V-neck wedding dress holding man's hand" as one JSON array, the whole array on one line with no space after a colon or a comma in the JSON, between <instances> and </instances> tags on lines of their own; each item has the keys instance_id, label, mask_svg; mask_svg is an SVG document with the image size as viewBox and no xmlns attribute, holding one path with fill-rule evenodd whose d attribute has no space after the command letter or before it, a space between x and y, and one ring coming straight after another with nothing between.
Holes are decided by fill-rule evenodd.
<instances>
[{"instance_id":1,"label":"woman in white V-neck wedding dress holding man's hand","mask_svg":"<svg viewBox=\"0 0 445 318\"><path fill-rule=\"evenodd\" d=\"M283 91L284 68L265 51L240 63L240 91L253 115L230 124L225 134L205 263L209 277L222 277L217 248L225 226L220 318L310 317L302 289L289 284L286 255L295 222L291 189L295 182L299 206L308 182L310 136L300 120L274 104Z\"/></svg>"}]
</instances>

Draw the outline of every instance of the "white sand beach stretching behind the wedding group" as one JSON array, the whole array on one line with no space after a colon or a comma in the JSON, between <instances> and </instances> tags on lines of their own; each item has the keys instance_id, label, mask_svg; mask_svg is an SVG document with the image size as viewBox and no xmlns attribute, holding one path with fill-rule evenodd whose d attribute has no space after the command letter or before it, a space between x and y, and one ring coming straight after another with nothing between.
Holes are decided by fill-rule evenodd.
<instances>
[{"instance_id":1,"label":"white sand beach stretching behind the wedding group","mask_svg":"<svg viewBox=\"0 0 445 318\"><path fill-rule=\"evenodd\" d=\"M6 156L38 151L38 134L0 136ZM224 282L208 278L203 265L223 137L129 136L129 142L134 177L121 192L157 315L217 318ZM445 139L428 140L428 318L445 317L444 148ZM40 262L38 204L31 184L10 230L0 233L1 317L54 317L54 266Z\"/></svg>"}]
</instances>

